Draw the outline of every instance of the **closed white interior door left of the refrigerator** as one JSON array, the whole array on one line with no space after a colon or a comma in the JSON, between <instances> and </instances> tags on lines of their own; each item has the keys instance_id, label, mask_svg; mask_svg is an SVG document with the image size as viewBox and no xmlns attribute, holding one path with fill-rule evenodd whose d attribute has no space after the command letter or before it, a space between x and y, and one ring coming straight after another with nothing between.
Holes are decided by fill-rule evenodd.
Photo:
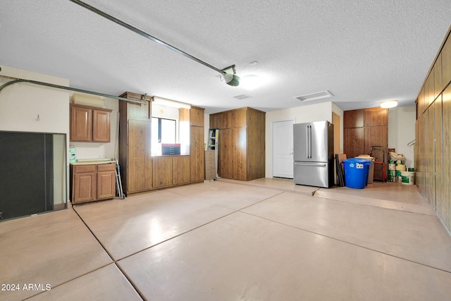
<instances>
[{"instance_id":1,"label":"closed white interior door left of the refrigerator","mask_svg":"<svg viewBox=\"0 0 451 301\"><path fill-rule=\"evenodd\" d=\"M272 123L274 177L293 178L293 124L294 120Z\"/></svg>"}]
</instances>

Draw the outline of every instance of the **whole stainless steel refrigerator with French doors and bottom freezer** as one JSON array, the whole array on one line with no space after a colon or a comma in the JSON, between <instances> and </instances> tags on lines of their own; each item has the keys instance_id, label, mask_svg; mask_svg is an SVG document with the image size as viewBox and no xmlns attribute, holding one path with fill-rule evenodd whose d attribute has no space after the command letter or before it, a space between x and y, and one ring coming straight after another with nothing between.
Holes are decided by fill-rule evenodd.
<instances>
[{"instance_id":1,"label":"whole stainless steel refrigerator with French doors and bottom freezer","mask_svg":"<svg viewBox=\"0 0 451 301\"><path fill-rule=\"evenodd\" d=\"M293 181L299 185L333 185L333 124L328 121L293 125Z\"/></svg>"}]
</instances>

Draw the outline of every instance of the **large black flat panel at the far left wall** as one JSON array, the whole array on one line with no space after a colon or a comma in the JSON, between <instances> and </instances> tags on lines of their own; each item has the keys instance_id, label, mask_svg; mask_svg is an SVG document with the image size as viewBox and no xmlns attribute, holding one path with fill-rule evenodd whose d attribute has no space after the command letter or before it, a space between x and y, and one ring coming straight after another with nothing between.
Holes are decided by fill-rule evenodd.
<instances>
[{"instance_id":1,"label":"large black flat panel at the far left wall","mask_svg":"<svg viewBox=\"0 0 451 301\"><path fill-rule=\"evenodd\" d=\"M52 211L53 134L0 132L3 219Z\"/></svg>"}]
</instances>

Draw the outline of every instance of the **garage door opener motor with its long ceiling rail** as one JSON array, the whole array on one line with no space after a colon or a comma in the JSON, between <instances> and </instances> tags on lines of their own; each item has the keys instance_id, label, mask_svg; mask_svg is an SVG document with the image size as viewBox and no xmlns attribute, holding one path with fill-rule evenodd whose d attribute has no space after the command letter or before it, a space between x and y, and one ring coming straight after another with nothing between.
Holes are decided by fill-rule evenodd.
<instances>
[{"instance_id":1,"label":"garage door opener motor with its long ceiling rail","mask_svg":"<svg viewBox=\"0 0 451 301\"><path fill-rule=\"evenodd\" d=\"M125 23L122 20L119 20L118 18L114 18L113 16L109 15L108 13L104 13L103 11L100 11L99 9L95 8L94 6L90 6L89 4L85 4L85 2L79 1L79 0L70 0L71 2L78 4L79 6L82 6L86 9L88 9L89 11L92 11L93 13L97 13L97 15L102 16L110 21L113 21L114 23L121 25L125 28L127 28L128 30L131 30L132 32L137 33L138 35L142 35L142 37L145 37L147 39L150 39L153 42L156 42L168 49L171 49L172 51L177 52L178 54L181 54L183 56L186 56L188 59L192 59L193 61L197 61L197 63L202 63L202 65L211 68L213 70L215 70L218 73L221 73L222 77L224 78L224 81L226 82L226 84L231 85L231 86L237 86L240 85L240 78L238 78L237 75L235 75L235 65L233 65L233 74L232 76L230 76L230 73L226 73L226 69L219 69L216 68L215 66L211 66L209 63L206 63L200 59L197 59L197 57L192 56L191 54L187 54L185 51L182 51L178 48L173 47L171 44L168 44L166 42L161 41L161 39L157 39L156 37L153 37L152 35L149 35L147 32L144 32L140 29L138 29L137 27L134 27L128 23ZM230 67L228 67L230 68Z\"/></svg>"}]
</instances>

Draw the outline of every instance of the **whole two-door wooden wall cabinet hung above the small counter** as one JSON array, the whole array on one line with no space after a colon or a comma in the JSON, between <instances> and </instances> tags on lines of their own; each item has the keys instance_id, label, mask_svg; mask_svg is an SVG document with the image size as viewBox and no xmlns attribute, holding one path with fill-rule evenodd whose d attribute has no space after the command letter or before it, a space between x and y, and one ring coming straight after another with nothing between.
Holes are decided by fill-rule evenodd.
<instances>
[{"instance_id":1,"label":"whole two-door wooden wall cabinet hung above the small counter","mask_svg":"<svg viewBox=\"0 0 451 301\"><path fill-rule=\"evenodd\" d=\"M70 141L110 142L111 111L70 104Z\"/></svg>"}]
</instances>

